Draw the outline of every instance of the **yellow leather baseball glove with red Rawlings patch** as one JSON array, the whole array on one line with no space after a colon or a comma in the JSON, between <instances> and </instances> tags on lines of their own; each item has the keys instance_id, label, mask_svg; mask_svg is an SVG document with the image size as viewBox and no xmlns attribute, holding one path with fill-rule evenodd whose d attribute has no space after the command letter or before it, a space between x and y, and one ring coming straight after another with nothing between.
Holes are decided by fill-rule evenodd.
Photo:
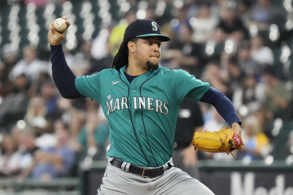
<instances>
[{"instance_id":1,"label":"yellow leather baseball glove with red Rawlings patch","mask_svg":"<svg viewBox=\"0 0 293 195\"><path fill-rule=\"evenodd\" d=\"M243 141L232 129L226 129L223 126L219 131L194 132L192 144L194 150L199 149L206 152L226 152L228 155L235 149L241 149L244 146ZM233 144L230 149L229 142ZM231 153L232 154L232 153ZM235 158L235 156L232 154Z\"/></svg>"}]
</instances>

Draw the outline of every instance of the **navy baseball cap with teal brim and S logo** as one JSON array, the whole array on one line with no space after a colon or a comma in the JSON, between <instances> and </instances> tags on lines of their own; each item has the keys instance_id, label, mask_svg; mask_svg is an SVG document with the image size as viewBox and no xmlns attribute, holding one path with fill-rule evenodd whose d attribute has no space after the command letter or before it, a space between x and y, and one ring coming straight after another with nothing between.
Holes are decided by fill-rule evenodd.
<instances>
[{"instance_id":1,"label":"navy baseball cap with teal brim and S logo","mask_svg":"<svg viewBox=\"0 0 293 195\"><path fill-rule=\"evenodd\" d=\"M151 19L136 19L125 29L123 40L132 37L150 37L159 36L162 42L170 41L171 38L161 35L161 28L154 20Z\"/></svg>"}]
</instances>

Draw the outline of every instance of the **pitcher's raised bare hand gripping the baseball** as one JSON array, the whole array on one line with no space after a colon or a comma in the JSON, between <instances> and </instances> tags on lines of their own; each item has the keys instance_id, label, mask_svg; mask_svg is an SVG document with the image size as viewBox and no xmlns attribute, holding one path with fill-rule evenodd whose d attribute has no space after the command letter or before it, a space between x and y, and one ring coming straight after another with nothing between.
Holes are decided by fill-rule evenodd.
<instances>
[{"instance_id":1,"label":"pitcher's raised bare hand gripping the baseball","mask_svg":"<svg viewBox=\"0 0 293 195\"><path fill-rule=\"evenodd\" d=\"M70 22L68 20L66 20L66 16L62 16L62 19L65 19L65 23L67 25L66 29L59 32L58 30L56 30L53 26L53 23L51 23L49 25L49 34L48 34L48 40L50 45L59 45L62 43L64 37L65 37L65 33L67 28L70 26Z\"/></svg>"}]
</instances>

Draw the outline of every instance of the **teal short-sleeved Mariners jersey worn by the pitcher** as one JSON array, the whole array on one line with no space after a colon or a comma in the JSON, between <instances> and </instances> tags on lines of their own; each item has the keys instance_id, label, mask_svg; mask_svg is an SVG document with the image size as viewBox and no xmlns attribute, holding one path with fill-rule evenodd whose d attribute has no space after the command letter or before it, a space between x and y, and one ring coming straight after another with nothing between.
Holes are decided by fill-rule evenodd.
<instances>
[{"instance_id":1,"label":"teal short-sleeved Mariners jersey worn by the pitcher","mask_svg":"<svg viewBox=\"0 0 293 195\"><path fill-rule=\"evenodd\" d=\"M103 108L110 129L108 156L143 167L162 166L173 154L181 101L200 100L210 85L181 69L161 66L130 84L125 68L78 77L75 86Z\"/></svg>"}]
</instances>

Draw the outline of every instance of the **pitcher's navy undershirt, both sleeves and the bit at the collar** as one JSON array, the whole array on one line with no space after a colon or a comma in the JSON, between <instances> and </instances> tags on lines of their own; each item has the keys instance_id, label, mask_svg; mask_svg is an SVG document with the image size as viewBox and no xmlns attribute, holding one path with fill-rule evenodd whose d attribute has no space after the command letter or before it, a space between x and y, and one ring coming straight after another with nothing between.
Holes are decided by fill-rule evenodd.
<instances>
[{"instance_id":1,"label":"pitcher's navy undershirt, both sleeves and the bit at the collar","mask_svg":"<svg viewBox=\"0 0 293 195\"><path fill-rule=\"evenodd\" d=\"M52 63L52 76L57 89L63 98L74 99L84 98L75 87L75 75L67 65L65 56L62 50L62 44L50 45L51 47L51 63ZM134 79L133 76L125 74L128 81ZM228 122L231 126L233 122L241 121L237 116L237 112L232 102L219 90L210 87L208 91L200 99L201 102L206 102L213 105L217 112Z\"/></svg>"}]
</instances>

